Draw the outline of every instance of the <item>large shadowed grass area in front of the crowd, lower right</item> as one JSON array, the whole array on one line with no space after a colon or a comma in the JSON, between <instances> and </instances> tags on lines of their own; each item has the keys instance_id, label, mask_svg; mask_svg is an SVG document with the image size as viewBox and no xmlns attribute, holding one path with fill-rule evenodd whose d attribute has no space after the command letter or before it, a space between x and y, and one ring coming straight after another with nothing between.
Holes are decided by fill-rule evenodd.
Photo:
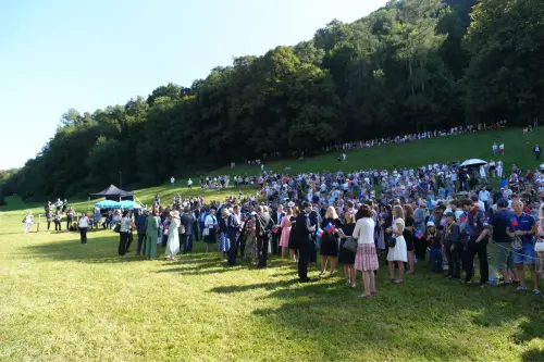
<instances>
[{"instance_id":1,"label":"large shadowed grass area in front of the crowd, lower right","mask_svg":"<svg viewBox=\"0 0 544 362\"><path fill-rule=\"evenodd\" d=\"M245 298L244 294L252 296L257 289L269 291L257 299L272 299L274 307L257 309L252 314L274 329L319 340L313 347L320 353L317 355L327 360L337 360L341 355L357 360L356 354L342 353L357 351L359 346L362 350L381 351L392 360L400 355L418 360L466 360L467 355L474 357L474 345L462 338L443 337L452 330L470 328L471 323L493 327L521 319L526 322L519 326L518 340L530 341L544 335L544 315L537 312L542 300L508 296L498 288L466 287L444 280L440 275L420 275L418 278L424 278L408 279L404 286L392 285L384 276L382 273L378 280L379 295L373 300L357 298L360 284L357 289L344 287L341 279L300 284L296 276L290 280L221 286L208 292L239 294L238 298ZM474 317L474 313L478 316ZM345 335L354 328L359 332L356 338ZM504 341L496 342L498 346ZM528 352L524 360L541 361L542 355L542 351L534 350Z\"/></svg>"}]
</instances>

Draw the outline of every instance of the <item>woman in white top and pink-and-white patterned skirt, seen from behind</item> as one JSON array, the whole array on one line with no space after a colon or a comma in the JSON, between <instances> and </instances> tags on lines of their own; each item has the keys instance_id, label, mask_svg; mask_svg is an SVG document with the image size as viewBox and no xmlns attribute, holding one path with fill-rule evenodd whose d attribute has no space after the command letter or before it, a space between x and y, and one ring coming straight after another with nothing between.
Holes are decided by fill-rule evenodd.
<instances>
[{"instance_id":1,"label":"woman in white top and pink-and-white patterned skirt, seen from behind","mask_svg":"<svg viewBox=\"0 0 544 362\"><path fill-rule=\"evenodd\" d=\"M355 269L362 272L363 289L362 289L362 295L360 295L359 298L373 298L376 295L375 283L374 283L374 271L378 271L379 269L378 253L375 250L375 242L374 242L375 223L372 220L372 209L369 205L367 204L361 205L359 212L361 219L359 219L355 224L355 229L353 235L354 238L357 239ZM399 235L400 237L403 237L401 232ZM404 263L399 264L403 264L404 267ZM355 284L353 284L351 286L355 287Z\"/></svg>"}]
</instances>

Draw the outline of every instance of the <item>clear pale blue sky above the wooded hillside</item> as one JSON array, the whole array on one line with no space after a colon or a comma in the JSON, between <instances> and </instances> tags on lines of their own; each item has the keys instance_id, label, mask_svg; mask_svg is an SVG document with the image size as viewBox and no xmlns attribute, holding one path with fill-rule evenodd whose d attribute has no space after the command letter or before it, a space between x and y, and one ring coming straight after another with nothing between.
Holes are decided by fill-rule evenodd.
<instances>
[{"instance_id":1,"label":"clear pale blue sky above the wooded hillside","mask_svg":"<svg viewBox=\"0 0 544 362\"><path fill-rule=\"evenodd\" d=\"M190 86L235 57L309 40L386 0L0 0L0 170L21 167L70 108Z\"/></svg>"}]
</instances>

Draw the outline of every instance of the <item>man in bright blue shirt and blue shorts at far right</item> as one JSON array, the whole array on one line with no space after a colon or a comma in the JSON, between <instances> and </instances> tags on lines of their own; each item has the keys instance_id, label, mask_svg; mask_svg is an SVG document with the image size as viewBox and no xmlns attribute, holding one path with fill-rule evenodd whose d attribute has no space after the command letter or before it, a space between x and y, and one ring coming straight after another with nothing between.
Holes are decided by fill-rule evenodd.
<instances>
[{"instance_id":1,"label":"man in bright blue shirt and blue shorts at far right","mask_svg":"<svg viewBox=\"0 0 544 362\"><path fill-rule=\"evenodd\" d=\"M519 287L516 291L527 291L524 278L524 265L529 265L531 271L531 279L533 282L533 295L540 296L539 276L534 266L536 253L534 252L533 235L534 235L534 219L523 212L523 202L520 199L512 200L512 209L515 217L511 220L514 235L521 239L522 246L520 250L514 250L514 263L518 270Z\"/></svg>"}]
</instances>

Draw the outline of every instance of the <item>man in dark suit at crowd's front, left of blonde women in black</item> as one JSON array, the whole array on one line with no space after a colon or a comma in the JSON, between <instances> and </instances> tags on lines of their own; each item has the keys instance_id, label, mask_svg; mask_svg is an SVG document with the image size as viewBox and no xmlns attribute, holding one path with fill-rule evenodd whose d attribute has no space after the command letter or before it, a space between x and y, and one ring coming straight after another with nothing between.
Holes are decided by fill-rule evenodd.
<instances>
[{"instance_id":1,"label":"man in dark suit at crowd's front, left of blonde women in black","mask_svg":"<svg viewBox=\"0 0 544 362\"><path fill-rule=\"evenodd\" d=\"M298 277L300 282L311 282L308 277L308 262L311 254L316 254L312 235L316 233L316 226L311 226L310 212L312 204L310 202L302 203L302 212L297 216L295 229L295 240L298 246Z\"/></svg>"}]
</instances>

